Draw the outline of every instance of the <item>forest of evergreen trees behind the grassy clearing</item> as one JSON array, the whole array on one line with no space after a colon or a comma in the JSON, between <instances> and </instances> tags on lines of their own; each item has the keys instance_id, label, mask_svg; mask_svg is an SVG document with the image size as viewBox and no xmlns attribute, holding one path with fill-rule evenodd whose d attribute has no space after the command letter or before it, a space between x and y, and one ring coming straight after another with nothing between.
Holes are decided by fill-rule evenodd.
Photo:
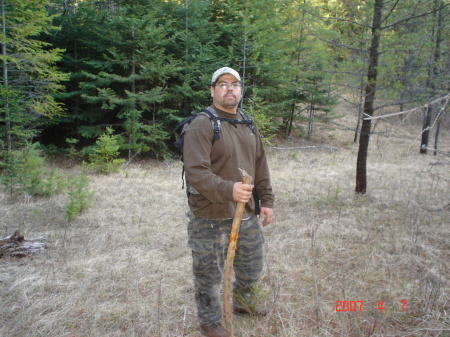
<instances>
[{"instance_id":1,"label":"forest of evergreen trees behind the grassy clearing","mask_svg":"<svg viewBox=\"0 0 450 337\"><path fill-rule=\"evenodd\" d=\"M355 142L359 132L368 142L371 121L364 126L363 114L403 111L448 94L444 0L0 6L3 167L12 151L35 142L47 155L71 159L92 156L101 139L127 162L169 158L174 127L210 104L210 77L222 66L242 74L242 107L268 140L310 138L314 123L339 118L333 107L346 101L358 116L349 126ZM425 152L430 123L445 112L444 100L435 103L423 109Z\"/></svg>"}]
</instances>

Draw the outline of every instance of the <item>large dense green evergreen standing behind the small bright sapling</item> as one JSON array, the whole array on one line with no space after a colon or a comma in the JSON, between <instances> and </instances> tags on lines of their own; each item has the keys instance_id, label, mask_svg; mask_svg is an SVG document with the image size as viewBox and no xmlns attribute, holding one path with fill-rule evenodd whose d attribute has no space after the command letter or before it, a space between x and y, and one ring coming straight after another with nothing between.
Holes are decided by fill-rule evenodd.
<instances>
[{"instance_id":1,"label":"large dense green evergreen standing behind the small bright sapling","mask_svg":"<svg viewBox=\"0 0 450 337\"><path fill-rule=\"evenodd\" d=\"M167 38L157 7L147 1L117 2L113 11L98 14L91 48L100 57L85 61L91 69L83 73L82 98L104 111L103 123L123 135L129 159L150 149L163 154L169 135L162 123L170 116L158 104L168 99L166 80L176 66L165 53Z\"/></svg>"}]
</instances>

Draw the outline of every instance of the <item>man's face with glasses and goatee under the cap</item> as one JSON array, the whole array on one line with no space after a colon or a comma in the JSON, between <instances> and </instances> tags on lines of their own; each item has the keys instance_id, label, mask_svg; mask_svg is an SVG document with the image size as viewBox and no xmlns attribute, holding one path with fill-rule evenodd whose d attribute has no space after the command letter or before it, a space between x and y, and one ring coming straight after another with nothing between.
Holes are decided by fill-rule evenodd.
<instances>
[{"instance_id":1,"label":"man's face with glasses and goatee under the cap","mask_svg":"<svg viewBox=\"0 0 450 337\"><path fill-rule=\"evenodd\" d=\"M236 108L242 98L240 82L233 75L224 74L211 87L211 96L215 106L223 111L236 113Z\"/></svg>"}]
</instances>

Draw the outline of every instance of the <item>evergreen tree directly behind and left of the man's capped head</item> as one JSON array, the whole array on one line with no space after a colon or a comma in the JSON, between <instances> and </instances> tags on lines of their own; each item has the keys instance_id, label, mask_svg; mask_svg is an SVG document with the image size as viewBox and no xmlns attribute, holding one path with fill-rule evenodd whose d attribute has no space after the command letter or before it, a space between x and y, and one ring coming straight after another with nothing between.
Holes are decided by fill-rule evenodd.
<instances>
[{"instance_id":1,"label":"evergreen tree directly behind and left of the man's capped head","mask_svg":"<svg viewBox=\"0 0 450 337\"><path fill-rule=\"evenodd\" d=\"M228 49L222 44L222 24L216 19L216 3L209 0L165 2L163 12L170 17L171 34L175 36L167 51L179 67L170 79L171 99L165 109L179 117L197 113L211 104L211 74L229 66Z\"/></svg>"}]
</instances>

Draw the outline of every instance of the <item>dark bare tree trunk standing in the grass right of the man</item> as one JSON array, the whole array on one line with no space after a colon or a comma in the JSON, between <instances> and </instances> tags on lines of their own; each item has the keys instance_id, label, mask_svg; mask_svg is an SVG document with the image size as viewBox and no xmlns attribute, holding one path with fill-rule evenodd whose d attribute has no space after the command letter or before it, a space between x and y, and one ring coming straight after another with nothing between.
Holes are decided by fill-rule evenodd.
<instances>
[{"instance_id":1,"label":"dark bare tree trunk standing in the grass right of the man","mask_svg":"<svg viewBox=\"0 0 450 337\"><path fill-rule=\"evenodd\" d=\"M380 46L380 26L382 20L384 0L375 0L372 42L369 49L369 69L367 72L366 97L364 99L365 116L373 115L373 103L375 100L377 84L378 48ZM356 188L357 193L364 194L367 190L367 152L369 149L370 128L372 121L364 119L359 137L358 159L356 162Z\"/></svg>"}]
</instances>

